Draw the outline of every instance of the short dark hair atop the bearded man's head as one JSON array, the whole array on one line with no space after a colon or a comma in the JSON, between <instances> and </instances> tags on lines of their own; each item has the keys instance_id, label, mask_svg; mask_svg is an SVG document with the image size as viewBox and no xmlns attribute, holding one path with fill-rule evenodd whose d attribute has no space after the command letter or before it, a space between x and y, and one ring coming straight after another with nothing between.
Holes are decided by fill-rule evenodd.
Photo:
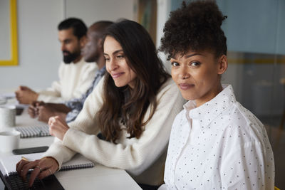
<instances>
[{"instance_id":1,"label":"short dark hair atop the bearded man's head","mask_svg":"<svg viewBox=\"0 0 285 190\"><path fill-rule=\"evenodd\" d=\"M80 39L82 36L86 36L87 27L81 19L69 18L58 24L58 31L67 30L73 28L73 35Z\"/></svg>"}]
</instances>

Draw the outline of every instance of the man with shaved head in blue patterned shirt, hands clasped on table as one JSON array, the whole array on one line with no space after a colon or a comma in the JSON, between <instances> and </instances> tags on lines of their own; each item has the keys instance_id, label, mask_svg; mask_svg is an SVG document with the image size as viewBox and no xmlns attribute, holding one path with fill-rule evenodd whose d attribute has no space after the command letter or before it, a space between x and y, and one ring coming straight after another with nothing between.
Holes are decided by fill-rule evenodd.
<instances>
[{"instance_id":1,"label":"man with shaved head in blue patterned shirt, hands clasped on table","mask_svg":"<svg viewBox=\"0 0 285 190\"><path fill-rule=\"evenodd\" d=\"M86 46L82 49L82 55L86 62L95 62L98 70L96 70L93 83L87 92L80 98L73 98L63 103L33 102L33 104L28 107L28 114L31 117L38 117L38 120L42 122L48 122L49 117L56 115L66 120L66 122L71 122L76 119L83 108L86 98L92 93L93 88L95 88L105 74L103 36L106 28L112 23L111 21L97 21L88 28Z\"/></svg>"}]
</instances>

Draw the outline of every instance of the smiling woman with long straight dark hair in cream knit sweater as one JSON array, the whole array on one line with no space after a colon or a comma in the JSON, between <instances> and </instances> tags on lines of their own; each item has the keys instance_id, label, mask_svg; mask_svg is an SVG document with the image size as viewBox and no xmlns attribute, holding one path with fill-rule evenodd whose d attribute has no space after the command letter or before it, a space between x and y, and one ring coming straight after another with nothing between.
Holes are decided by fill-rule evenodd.
<instances>
[{"instance_id":1,"label":"smiling woman with long straight dark hair in cream knit sweater","mask_svg":"<svg viewBox=\"0 0 285 190\"><path fill-rule=\"evenodd\" d=\"M107 167L125 169L143 188L163 183L172 121L185 100L139 23L125 20L109 26L103 53L105 78L76 120L67 125L60 117L50 117L50 132L59 140L42 159L17 164L24 179L34 168L29 185L36 176L58 171L76 152ZM99 132L104 140L98 138Z\"/></svg>"}]
</instances>

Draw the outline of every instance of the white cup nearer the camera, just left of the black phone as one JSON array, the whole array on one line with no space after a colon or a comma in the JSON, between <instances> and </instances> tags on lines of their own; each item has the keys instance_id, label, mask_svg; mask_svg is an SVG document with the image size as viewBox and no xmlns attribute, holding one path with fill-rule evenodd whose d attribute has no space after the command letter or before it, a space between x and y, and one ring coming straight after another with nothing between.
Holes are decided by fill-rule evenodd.
<instances>
[{"instance_id":1,"label":"white cup nearer the camera, just left of the black phone","mask_svg":"<svg viewBox=\"0 0 285 190\"><path fill-rule=\"evenodd\" d=\"M16 130L0 132L0 151L12 152L13 149L19 149L20 134Z\"/></svg>"}]
</instances>

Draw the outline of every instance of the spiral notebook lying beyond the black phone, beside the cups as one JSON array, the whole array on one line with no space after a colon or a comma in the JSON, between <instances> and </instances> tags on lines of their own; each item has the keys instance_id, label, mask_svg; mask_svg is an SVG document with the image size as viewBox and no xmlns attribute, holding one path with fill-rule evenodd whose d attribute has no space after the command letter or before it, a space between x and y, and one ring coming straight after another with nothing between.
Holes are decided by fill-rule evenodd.
<instances>
[{"instance_id":1,"label":"spiral notebook lying beyond the black phone, beside the cups","mask_svg":"<svg viewBox=\"0 0 285 190\"><path fill-rule=\"evenodd\" d=\"M49 134L48 125L30 126L30 127L15 127L15 130L21 132L20 134L21 138L51 136L51 134Z\"/></svg>"}]
</instances>

